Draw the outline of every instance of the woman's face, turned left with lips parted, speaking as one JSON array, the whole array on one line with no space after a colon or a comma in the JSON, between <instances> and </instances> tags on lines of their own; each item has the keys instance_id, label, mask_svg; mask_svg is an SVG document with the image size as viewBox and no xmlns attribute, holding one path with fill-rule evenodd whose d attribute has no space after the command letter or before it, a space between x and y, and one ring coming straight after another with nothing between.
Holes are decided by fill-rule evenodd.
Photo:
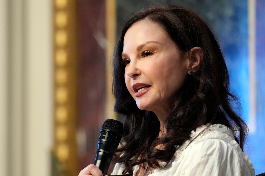
<instances>
[{"instance_id":1,"label":"woman's face, turned left with lips parted, speaking","mask_svg":"<svg viewBox=\"0 0 265 176\"><path fill-rule=\"evenodd\" d=\"M142 20L125 33L122 60L125 83L138 108L168 115L169 100L190 70L187 54L160 25Z\"/></svg>"}]
</instances>

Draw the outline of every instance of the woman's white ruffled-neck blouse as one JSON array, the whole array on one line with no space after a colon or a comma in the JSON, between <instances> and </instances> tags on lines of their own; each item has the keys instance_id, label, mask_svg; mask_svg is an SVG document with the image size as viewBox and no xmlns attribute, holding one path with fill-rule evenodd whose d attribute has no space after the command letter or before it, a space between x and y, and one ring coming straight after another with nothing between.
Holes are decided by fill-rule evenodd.
<instances>
[{"instance_id":1,"label":"woman's white ruffled-neck blouse","mask_svg":"<svg viewBox=\"0 0 265 176\"><path fill-rule=\"evenodd\" d=\"M249 176L255 175L249 157L241 150L231 130L221 124L202 125L191 138L176 146L175 157L165 169L155 169L152 176ZM206 129L206 130L204 130ZM204 130L204 131L203 131ZM133 167L133 176L139 165ZM122 175L123 163L116 163L112 175Z\"/></svg>"}]
</instances>

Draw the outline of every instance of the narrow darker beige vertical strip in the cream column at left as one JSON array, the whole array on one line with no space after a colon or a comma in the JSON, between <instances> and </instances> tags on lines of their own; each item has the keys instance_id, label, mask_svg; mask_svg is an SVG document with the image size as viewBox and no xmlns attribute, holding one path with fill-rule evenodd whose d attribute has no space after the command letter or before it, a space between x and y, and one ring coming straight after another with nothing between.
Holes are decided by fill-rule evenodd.
<instances>
[{"instance_id":1,"label":"narrow darker beige vertical strip in the cream column at left","mask_svg":"<svg viewBox=\"0 0 265 176\"><path fill-rule=\"evenodd\" d=\"M6 1L7 8L7 113L8 175L24 174L24 72L23 72L23 2Z\"/></svg>"}]
</instances>

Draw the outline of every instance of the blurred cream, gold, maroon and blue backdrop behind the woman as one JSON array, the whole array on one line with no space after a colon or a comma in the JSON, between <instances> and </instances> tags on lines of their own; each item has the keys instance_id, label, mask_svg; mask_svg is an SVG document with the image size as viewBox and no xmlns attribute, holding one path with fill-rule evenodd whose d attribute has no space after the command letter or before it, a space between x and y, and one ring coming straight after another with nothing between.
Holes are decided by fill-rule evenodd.
<instances>
[{"instance_id":1,"label":"blurred cream, gold, maroon and blue backdrop behind the woman","mask_svg":"<svg viewBox=\"0 0 265 176\"><path fill-rule=\"evenodd\" d=\"M249 125L245 152L265 172L265 1L0 0L0 175L74 176L94 162L103 122L120 118L115 32L150 4L187 7L216 32Z\"/></svg>"}]
</instances>

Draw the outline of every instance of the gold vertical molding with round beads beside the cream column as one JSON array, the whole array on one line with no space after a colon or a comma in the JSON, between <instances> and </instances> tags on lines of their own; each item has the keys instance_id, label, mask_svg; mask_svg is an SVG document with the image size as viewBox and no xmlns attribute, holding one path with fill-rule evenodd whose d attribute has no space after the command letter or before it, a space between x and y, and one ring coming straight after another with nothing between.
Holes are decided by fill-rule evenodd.
<instances>
[{"instance_id":1,"label":"gold vertical molding with round beads beside the cream column","mask_svg":"<svg viewBox=\"0 0 265 176\"><path fill-rule=\"evenodd\" d=\"M54 154L67 175L78 175L76 73L76 1L54 0Z\"/></svg>"}]
</instances>

